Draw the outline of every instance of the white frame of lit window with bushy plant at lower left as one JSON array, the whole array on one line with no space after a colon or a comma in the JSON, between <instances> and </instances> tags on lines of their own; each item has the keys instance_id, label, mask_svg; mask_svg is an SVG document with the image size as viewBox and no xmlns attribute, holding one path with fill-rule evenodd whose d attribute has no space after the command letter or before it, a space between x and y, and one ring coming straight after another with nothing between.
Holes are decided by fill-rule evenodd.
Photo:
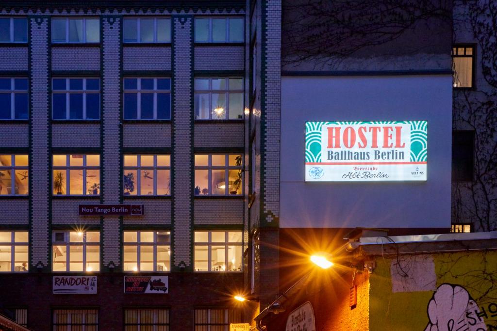
<instances>
[{"instance_id":1,"label":"white frame of lit window with bushy plant at lower left","mask_svg":"<svg viewBox=\"0 0 497 331\"><path fill-rule=\"evenodd\" d=\"M142 156L153 156L154 157L154 165L153 166L142 166L141 165L141 157ZM124 159L126 156L136 156L137 157L137 165L136 166L126 166L125 165L125 162L124 162ZM168 166L159 166L158 165L158 156L168 156L169 157L169 165ZM154 154L154 153L125 153L123 154L123 178L122 178L122 181L123 181L123 191L122 191L122 195L123 197L125 198L128 198L128 197L170 197L171 196L171 154ZM153 172L153 176L154 176L154 179L153 179L153 182L154 182L154 188L153 188L153 194L151 195L142 195L141 194L141 173L142 171L145 172L147 170L151 170ZM169 194L164 194L164 195L159 195L157 194L157 190L158 190L158 180L159 180L159 177L157 175L158 171L159 170L167 170L169 171ZM127 192L125 192L125 187L124 187L124 176L126 176L126 171L136 171L136 182L135 182L135 185L136 185L136 188L135 188L135 192L136 194L126 194Z\"/></svg>"}]
</instances>

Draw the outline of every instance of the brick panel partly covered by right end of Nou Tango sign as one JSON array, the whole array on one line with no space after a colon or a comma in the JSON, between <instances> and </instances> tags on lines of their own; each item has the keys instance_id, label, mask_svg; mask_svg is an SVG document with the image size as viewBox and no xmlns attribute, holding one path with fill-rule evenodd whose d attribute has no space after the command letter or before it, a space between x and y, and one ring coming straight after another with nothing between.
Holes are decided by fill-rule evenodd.
<instances>
[{"instance_id":1,"label":"brick panel partly covered by right end of Nou Tango sign","mask_svg":"<svg viewBox=\"0 0 497 331\"><path fill-rule=\"evenodd\" d=\"M143 204L145 209L144 216L124 216L125 225L171 225L170 199L124 199L124 203Z\"/></svg>"}]
</instances>

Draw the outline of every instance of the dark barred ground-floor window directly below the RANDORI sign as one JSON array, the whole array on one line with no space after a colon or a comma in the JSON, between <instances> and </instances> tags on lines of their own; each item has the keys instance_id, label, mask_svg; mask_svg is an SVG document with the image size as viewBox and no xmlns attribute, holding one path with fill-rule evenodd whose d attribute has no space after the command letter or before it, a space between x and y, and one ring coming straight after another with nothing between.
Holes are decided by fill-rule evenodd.
<instances>
[{"instance_id":1,"label":"dark barred ground-floor window directly below the RANDORI sign","mask_svg":"<svg viewBox=\"0 0 497 331\"><path fill-rule=\"evenodd\" d=\"M98 310L55 309L53 331L97 331Z\"/></svg>"}]
</instances>

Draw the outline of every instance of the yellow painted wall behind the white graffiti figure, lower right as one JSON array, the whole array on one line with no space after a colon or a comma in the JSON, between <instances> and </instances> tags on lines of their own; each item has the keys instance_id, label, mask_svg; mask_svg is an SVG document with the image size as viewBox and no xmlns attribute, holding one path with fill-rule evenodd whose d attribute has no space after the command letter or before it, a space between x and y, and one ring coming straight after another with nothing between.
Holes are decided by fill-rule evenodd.
<instances>
[{"instance_id":1,"label":"yellow painted wall behind the white graffiti figure, lower right","mask_svg":"<svg viewBox=\"0 0 497 331\"><path fill-rule=\"evenodd\" d=\"M464 287L480 310L482 307L486 310L488 318L483 317L485 323L496 326L496 329L488 330L497 330L497 312L492 317L494 313L489 311L489 305L493 303L496 303L497 309L497 252L443 253L431 254L431 257L436 276L436 286L433 287L438 288L443 283ZM369 330L425 330L429 321L427 306L434 291L393 293L392 260L379 257L375 262L376 267L369 278ZM494 310L494 306L491 309ZM453 330L457 330L457 327Z\"/></svg>"}]
</instances>

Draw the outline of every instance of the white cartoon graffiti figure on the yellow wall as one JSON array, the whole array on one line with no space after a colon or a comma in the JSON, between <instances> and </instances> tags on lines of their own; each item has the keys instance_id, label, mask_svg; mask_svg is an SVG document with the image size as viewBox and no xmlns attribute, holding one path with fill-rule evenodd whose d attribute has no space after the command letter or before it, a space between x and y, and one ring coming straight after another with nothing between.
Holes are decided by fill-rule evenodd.
<instances>
[{"instance_id":1,"label":"white cartoon graffiti figure on the yellow wall","mask_svg":"<svg viewBox=\"0 0 497 331\"><path fill-rule=\"evenodd\" d=\"M427 313L429 321L424 331L487 331L475 300L459 285L438 286Z\"/></svg>"}]
</instances>

